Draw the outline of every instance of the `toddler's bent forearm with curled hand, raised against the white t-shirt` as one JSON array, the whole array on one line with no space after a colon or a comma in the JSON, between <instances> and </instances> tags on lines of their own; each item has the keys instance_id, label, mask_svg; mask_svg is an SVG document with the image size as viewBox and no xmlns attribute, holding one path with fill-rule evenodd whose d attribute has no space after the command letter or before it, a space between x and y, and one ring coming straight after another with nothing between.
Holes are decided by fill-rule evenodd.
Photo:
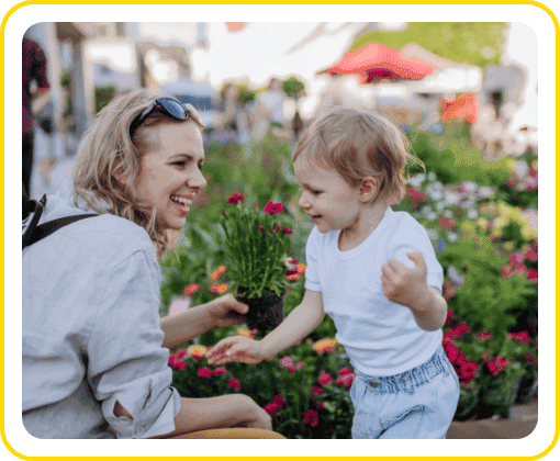
<instances>
[{"instance_id":1,"label":"toddler's bent forearm with curled hand, raised against the white t-shirt","mask_svg":"<svg viewBox=\"0 0 560 461\"><path fill-rule=\"evenodd\" d=\"M426 263L422 252L408 252L415 267L408 269L396 259L383 265L383 293L394 303L408 307L416 324L427 331L439 329L447 318L447 302L434 286L426 284Z\"/></svg>"}]
</instances>

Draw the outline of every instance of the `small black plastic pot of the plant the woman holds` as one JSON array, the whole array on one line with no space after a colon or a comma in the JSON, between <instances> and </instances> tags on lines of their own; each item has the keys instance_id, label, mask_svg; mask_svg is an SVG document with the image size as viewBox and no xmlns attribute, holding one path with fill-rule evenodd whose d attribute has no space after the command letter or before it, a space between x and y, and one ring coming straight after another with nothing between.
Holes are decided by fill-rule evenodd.
<instances>
[{"instance_id":1,"label":"small black plastic pot of the plant the woman holds","mask_svg":"<svg viewBox=\"0 0 560 461\"><path fill-rule=\"evenodd\" d=\"M249 329L275 329L284 318L284 294L247 299L244 290L238 289L236 299L249 306L249 312L245 315Z\"/></svg>"}]
</instances>

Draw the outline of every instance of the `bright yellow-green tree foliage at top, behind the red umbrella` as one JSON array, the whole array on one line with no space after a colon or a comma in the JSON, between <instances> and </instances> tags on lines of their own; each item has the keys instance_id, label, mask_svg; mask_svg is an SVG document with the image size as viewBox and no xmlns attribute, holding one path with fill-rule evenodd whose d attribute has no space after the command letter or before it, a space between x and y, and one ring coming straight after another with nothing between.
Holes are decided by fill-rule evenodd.
<instances>
[{"instance_id":1,"label":"bright yellow-green tree foliage at top, behind the red umbrella","mask_svg":"<svg viewBox=\"0 0 560 461\"><path fill-rule=\"evenodd\" d=\"M416 43L443 58L484 67L501 63L506 27L503 22L410 22L402 31L367 31L349 50L371 42L395 50Z\"/></svg>"}]
</instances>

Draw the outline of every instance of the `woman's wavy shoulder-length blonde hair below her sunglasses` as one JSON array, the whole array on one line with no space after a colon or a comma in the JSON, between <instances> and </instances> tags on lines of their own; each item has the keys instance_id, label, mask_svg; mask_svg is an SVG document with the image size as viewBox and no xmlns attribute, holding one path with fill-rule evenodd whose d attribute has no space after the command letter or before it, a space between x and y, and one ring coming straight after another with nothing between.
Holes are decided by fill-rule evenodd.
<instances>
[{"instance_id":1,"label":"woman's wavy shoulder-length blonde hair below her sunglasses","mask_svg":"<svg viewBox=\"0 0 560 461\"><path fill-rule=\"evenodd\" d=\"M149 128L191 120L201 127L193 117L178 121L156 108L131 136L133 120L160 95L134 90L114 98L83 135L72 173L76 206L82 199L98 213L111 213L141 225L154 241L158 257L167 248L168 232L156 224L156 207L141 200L137 190L141 158L158 142Z\"/></svg>"}]
</instances>

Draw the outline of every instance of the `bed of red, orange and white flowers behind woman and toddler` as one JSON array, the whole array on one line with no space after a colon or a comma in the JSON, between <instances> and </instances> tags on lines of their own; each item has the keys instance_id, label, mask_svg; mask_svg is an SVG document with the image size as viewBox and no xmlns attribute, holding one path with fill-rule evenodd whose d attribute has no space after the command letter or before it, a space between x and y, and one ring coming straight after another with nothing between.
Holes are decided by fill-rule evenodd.
<instances>
[{"instance_id":1,"label":"bed of red, orange and white flowers behind woman and toddler","mask_svg":"<svg viewBox=\"0 0 560 461\"><path fill-rule=\"evenodd\" d=\"M253 157L245 158L232 146L227 149L206 153L211 196L204 210L191 213L182 241L161 263L163 314L176 296L189 296L192 305L199 305L232 289L219 222L224 198L234 193L250 196L251 203L272 198L290 212L282 225L293 229L287 252L296 261L288 274L285 314L303 296L304 265L298 261L304 260L313 224L294 206L299 195L289 147L266 138ZM260 165L265 157L273 173L264 169L255 175L255 162ZM451 162L445 167L451 169ZM460 177L461 168L456 168L452 175ZM395 207L408 211L427 228L444 267L449 305L444 347L461 383L457 421L507 416L536 381L538 166L535 156L526 156L506 159L500 168L482 171L477 177L480 183L441 183L428 169L412 178L405 200ZM245 189L238 190L238 184ZM244 326L221 328L199 342L212 346L236 334L258 333ZM275 430L288 438L349 438L354 409L348 387L354 374L334 337L327 317L300 345L258 366L208 367L204 347L188 344L170 357L173 385L191 397L247 394L272 415Z\"/></svg>"}]
</instances>

